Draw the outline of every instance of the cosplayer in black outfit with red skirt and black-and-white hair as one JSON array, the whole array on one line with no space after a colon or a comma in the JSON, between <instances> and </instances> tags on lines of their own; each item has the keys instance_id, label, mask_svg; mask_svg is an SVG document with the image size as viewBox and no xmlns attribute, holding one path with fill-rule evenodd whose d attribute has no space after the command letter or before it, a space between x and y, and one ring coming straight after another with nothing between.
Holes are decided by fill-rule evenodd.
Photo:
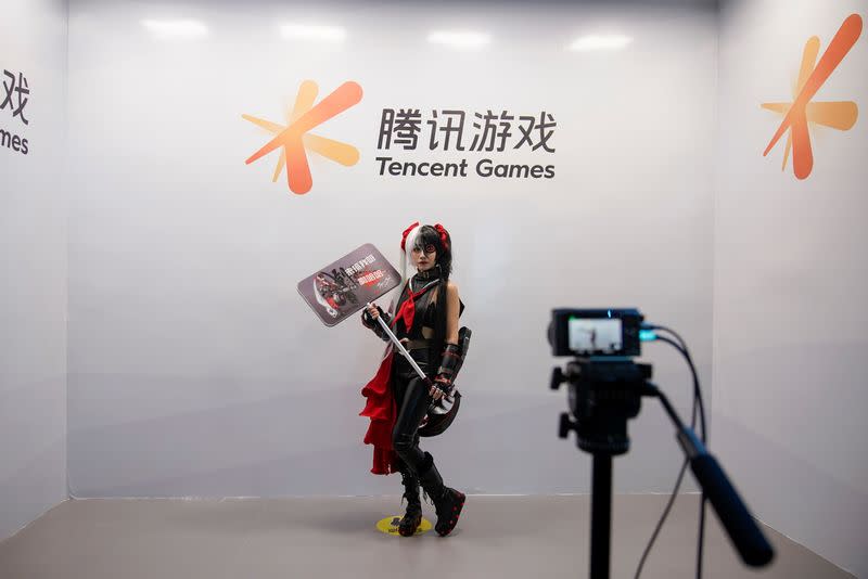
<instances>
[{"instance_id":1,"label":"cosplayer in black outfit with red skirt and black-and-white hair","mask_svg":"<svg viewBox=\"0 0 868 579\"><path fill-rule=\"evenodd\" d=\"M390 347L376 376L362 389L368 401L361 415L371 419L365 442L374 446L372 473L401 474L407 513L398 532L412 537L422 523L421 486L437 512L434 528L445 537L458 524L465 497L444 485L434 459L419 448L419 426L432 402L455 390L455 376L465 351L459 346L458 327L463 305L458 286L449 281L452 246L443 226L413 223L404 232L400 247L405 280L397 305L391 308L392 314L368 307L362 323L388 340L376 321L383 317L433 385L426 386L410 363ZM406 280L408 254L416 274Z\"/></svg>"}]
</instances>

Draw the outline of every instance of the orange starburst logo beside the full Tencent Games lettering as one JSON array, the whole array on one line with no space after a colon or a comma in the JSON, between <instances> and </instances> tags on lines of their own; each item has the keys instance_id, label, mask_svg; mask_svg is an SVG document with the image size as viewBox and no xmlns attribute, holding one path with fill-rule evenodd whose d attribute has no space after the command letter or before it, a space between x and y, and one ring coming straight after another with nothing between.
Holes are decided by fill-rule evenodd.
<instances>
[{"instance_id":1,"label":"orange starburst logo beside the full Tencent Games lettering","mask_svg":"<svg viewBox=\"0 0 868 579\"><path fill-rule=\"evenodd\" d=\"M326 158L330 158L345 167L352 167L359 160L359 152L355 146L333 141L312 134L309 131L330 118L343 113L350 106L361 101L361 87L357 82L347 81L337 87L334 92L322 99L317 105L319 88L312 80L305 80L298 87L298 95L295 98L295 105L292 112L286 111L286 125L279 125L251 115L241 115L245 120L250 120L269 132L277 133L277 137L268 141L265 146L251 155L245 162L247 165L276 150L283 147L280 152L280 159L275 168L272 181L277 181L283 166L286 166L286 182L290 191L297 195L304 195L314 184L310 177L310 167L307 164L307 152L310 150L319 153Z\"/></svg>"}]
</instances>

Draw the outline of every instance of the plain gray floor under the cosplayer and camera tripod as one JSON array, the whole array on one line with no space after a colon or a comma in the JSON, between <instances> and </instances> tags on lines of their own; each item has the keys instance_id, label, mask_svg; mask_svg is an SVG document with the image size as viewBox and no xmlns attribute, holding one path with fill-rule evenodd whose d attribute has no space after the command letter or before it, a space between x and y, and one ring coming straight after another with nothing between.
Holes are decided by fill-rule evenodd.
<instances>
[{"instance_id":1,"label":"plain gray floor under the cosplayer and camera tripod","mask_svg":"<svg viewBox=\"0 0 868 579\"><path fill-rule=\"evenodd\" d=\"M633 577L665 499L615 498L613 578ZM676 502L643 578L693 577L697 502ZM589 504L587 496L471 496L452 536L404 539L374 528L400 511L395 497L75 500L0 542L0 577L382 578L408 569L407 577L579 578L588 576ZM777 558L755 571L740 564L710 516L704 577L852 577L766 530Z\"/></svg>"}]
</instances>

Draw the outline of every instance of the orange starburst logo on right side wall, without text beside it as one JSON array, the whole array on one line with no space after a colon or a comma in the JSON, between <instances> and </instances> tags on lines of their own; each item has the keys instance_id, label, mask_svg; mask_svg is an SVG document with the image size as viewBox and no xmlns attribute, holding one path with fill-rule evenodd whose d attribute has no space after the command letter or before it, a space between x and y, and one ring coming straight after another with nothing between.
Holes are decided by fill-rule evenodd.
<instances>
[{"instance_id":1,"label":"orange starburst logo on right side wall, without text beside it","mask_svg":"<svg viewBox=\"0 0 868 579\"><path fill-rule=\"evenodd\" d=\"M832 74L832 70L841 64L860 34L861 17L858 14L851 14L838 29L818 63L820 39L816 36L808 38L802 53L802 66L793 90L793 101L790 103L763 103L763 108L783 115L783 120L763 156L768 155L783 132L789 129L787 144L783 147L781 170L787 168L787 159L790 156L790 149L792 149L793 173L797 179L805 179L814 167L808 123L816 123L841 131L848 130L856 124L859 110L853 101L810 102L810 100Z\"/></svg>"}]
</instances>

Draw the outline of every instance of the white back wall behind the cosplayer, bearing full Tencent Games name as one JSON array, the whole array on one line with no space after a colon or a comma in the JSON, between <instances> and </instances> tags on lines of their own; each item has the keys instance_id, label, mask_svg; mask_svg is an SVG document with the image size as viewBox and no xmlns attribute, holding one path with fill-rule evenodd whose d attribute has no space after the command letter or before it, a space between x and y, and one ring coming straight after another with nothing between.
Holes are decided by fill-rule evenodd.
<instances>
[{"instance_id":1,"label":"white back wall behind the cosplayer, bearing full Tencent Games name","mask_svg":"<svg viewBox=\"0 0 868 579\"><path fill-rule=\"evenodd\" d=\"M373 242L394 260L411 221L443 222L474 330L460 420L430 441L471 492L587 491L589 456L556 437L563 393L545 331L559 306L638 306L689 339L711 377L716 5L171 3L74 0L69 20L69 485L74 496L396 492L374 477L361 386L382 344L324 327L298 280ZM194 21L187 38L143 21ZM342 42L281 36L343 27ZM476 50L432 29L490 35ZM589 35L621 50L571 51ZM360 153L310 155L312 190L271 182L277 153L242 114L281 121L302 81L346 80L361 102L316 132ZM552 179L379 175L386 107L553 115ZM468 121L470 123L470 121ZM421 142L427 138L423 125ZM518 132L516 132L518 136ZM514 142L514 140L513 140ZM650 349L682 412L689 374ZM630 425L621 491L671 488L680 454L663 413Z\"/></svg>"}]
</instances>

